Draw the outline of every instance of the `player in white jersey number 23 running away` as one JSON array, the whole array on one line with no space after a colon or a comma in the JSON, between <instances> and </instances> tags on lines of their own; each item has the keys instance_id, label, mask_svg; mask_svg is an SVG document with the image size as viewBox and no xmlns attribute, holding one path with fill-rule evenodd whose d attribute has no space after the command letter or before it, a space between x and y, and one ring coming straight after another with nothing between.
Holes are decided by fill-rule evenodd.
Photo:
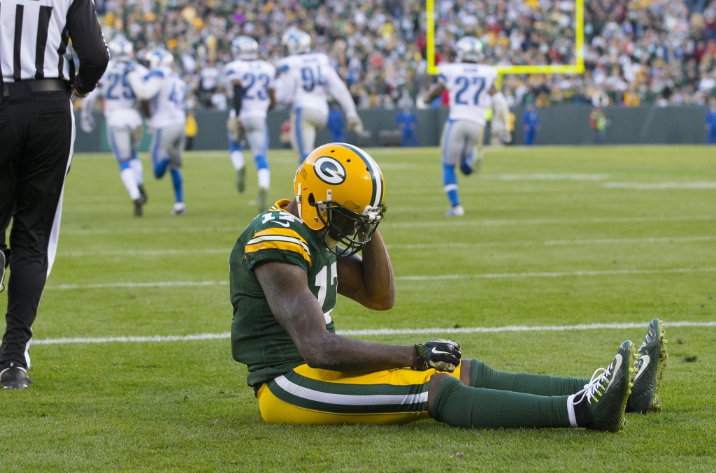
<instances>
[{"instance_id":1,"label":"player in white jersey number 23 running away","mask_svg":"<svg viewBox=\"0 0 716 473\"><path fill-rule=\"evenodd\" d=\"M274 79L276 67L258 59L258 43L251 36L238 36L233 40L235 60L224 67L226 82L233 89L233 109L226 123L231 163L236 169L236 187L243 192L246 186L246 166L243 162L241 141L245 137L251 147L258 173L258 211L269 208L271 172L266 151L269 150L269 128L266 111L276 105Z\"/></svg>"}]
</instances>

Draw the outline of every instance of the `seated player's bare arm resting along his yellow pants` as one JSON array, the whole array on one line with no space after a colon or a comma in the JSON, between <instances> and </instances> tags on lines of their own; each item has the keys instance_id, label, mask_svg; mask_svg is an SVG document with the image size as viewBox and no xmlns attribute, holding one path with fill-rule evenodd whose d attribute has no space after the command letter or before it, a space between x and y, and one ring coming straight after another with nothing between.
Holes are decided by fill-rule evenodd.
<instances>
[{"instance_id":1,"label":"seated player's bare arm resting along his yellow pants","mask_svg":"<svg viewBox=\"0 0 716 473\"><path fill-rule=\"evenodd\" d=\"M271 312L311 368L366 371L415 364L417 352L412 346L377 345L326 331L319 301L298 266L266 263L255 272Z\"/></svg>"}]
</instances>

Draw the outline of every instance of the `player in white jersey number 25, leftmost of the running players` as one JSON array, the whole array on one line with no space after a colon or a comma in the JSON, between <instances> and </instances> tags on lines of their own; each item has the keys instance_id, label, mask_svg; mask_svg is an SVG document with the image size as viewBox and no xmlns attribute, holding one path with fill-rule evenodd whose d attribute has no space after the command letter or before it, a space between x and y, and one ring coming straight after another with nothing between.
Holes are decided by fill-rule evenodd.
<instances>
[{"instance_id":1,"label":"player in white jersey number 25, leftmost of the running players","mask_svg":"<svg viewBox=\"0 0 716 473\"><path fill-rule=\"evenodd\" d=\"M135 204L134 215L142 215L142 205L147 202L144 190L142 162L137 156L140 140L144 134L139 101L127 81L127 73L135 71L144 77L147 69L133 60L132 43L124 36L115 36L109 44L112 59L97 89L82 100L82 130L86 133L95 128L92 109L97 97L105 98L105 121L107 142L120 163L120 177Z\"/></svg>"}]
</instances>

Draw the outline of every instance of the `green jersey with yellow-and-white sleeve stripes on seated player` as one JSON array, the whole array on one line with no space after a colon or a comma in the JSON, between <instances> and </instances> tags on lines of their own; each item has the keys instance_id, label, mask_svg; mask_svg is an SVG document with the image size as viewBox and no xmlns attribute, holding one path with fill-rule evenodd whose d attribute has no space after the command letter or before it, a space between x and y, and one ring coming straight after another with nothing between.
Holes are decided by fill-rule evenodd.
<instances>
[{"instance_id":1,"label":"green jersey with yellow-and-white sleeve stripes on seated player","mask_svg":"<svg viewBox=\"0 0 716 473\"><path fill-rule=\"evenodd\" d=\"M306 361L291 336L276 321L253 273L271 261L297 265L308 275L309 289L323 308L326 330L334 332L331 311L338 293L336 255L316 233L283 209L290 200L254 218L236 240L229 263L233 322L233 359L248 366L249 386L258 387Z\"/></svg>"}]
</instances>

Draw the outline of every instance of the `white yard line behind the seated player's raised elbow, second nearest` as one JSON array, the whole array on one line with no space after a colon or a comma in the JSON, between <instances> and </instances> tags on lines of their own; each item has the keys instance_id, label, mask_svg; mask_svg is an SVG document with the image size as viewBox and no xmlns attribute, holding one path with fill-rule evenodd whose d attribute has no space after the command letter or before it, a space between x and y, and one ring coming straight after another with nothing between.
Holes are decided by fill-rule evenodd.
<instances>
[{"instance_id":1,"label":"white yard line behind the seated player's raised elbow, second nearest","mask_svg":"<svg viewBox=\"0 0 716 473\"><path fill-rule=\"evenodd\" d=\"M716 268L666 268L666 269L614 269L580 270L534 273L481 273L397 276L395 281L440 281L442 279L508 279L508 278L564 278L569 276L603 276L629 274L714 273ZM150 283L97 283L60 284L45 286L46 290L105 289L105 288L170 288L180 286L227 286L228 281L157 281Z\"/></svg>"}]
</instances>

